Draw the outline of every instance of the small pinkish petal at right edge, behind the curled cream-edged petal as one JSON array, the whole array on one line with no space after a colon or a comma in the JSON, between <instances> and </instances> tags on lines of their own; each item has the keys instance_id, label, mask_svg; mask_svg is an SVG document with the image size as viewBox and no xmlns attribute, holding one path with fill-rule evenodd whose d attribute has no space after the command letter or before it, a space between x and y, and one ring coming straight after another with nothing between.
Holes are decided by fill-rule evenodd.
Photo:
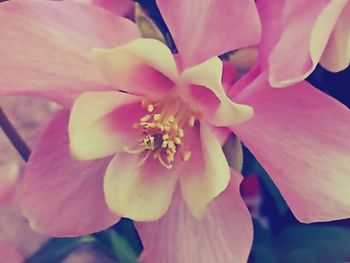
<instances>
[{"instance_id":1,"label":"small pinkish petal at right edge, behind the curled cream-edged petal","mask_svg":"<svg viewBox=\"0 0 350 263\"><path fill-rule=\"evenodd\" d=\"M321 65L338 72L350 63L350 2L347 3L321 57Z\"/></svg>"}]
</instances>

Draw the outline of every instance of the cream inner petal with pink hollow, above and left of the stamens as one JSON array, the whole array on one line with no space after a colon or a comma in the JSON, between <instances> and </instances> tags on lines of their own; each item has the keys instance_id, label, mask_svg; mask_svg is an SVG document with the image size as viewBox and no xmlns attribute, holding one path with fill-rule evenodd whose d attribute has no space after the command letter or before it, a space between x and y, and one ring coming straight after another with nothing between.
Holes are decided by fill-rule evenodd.
<instances>
[{"instance_id":1,"label":"cream inner petal with pink hollow, above and left of the stamens","mask_svg":"<svg viewBox=\"0 0 350 263\"><path fill-rule=\"evenodd\" d=\"M169 92L178 78L169 48L155 39L138 39L111 50L97 49L94 59L112 85L137 95Z\"/></svg>"}]
</instances>

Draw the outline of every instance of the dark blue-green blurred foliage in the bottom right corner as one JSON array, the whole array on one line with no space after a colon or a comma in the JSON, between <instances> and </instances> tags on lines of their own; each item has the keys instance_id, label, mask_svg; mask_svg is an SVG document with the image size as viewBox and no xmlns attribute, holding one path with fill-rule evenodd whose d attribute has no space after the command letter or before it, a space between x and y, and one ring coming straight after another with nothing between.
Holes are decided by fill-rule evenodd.
<instances>
[{"instance_id":1,"label":"dark blue-green blurred foliage in the bottom right corner","mask_svg":"<svg viewBox=\"0 0 350 263\"><path fill-rule=\"evenodd\" d=\"M273 235L254 222L251 263L331 263L350 260L350 229L291 225Z\"/></svg>"}]
</instances>

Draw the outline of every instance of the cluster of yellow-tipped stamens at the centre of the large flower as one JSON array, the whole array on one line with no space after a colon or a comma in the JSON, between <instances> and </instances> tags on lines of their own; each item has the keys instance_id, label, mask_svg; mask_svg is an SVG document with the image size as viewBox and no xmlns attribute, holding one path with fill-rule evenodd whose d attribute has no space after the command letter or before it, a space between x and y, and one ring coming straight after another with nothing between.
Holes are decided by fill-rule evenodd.
<instances>
[{"instance_id":1,"label":"cluster of yellow-tipped stamens at the centre of the large flower","mask_svg":"<svg viewBox=\"0 0 350 263\"><path fill-rule=\"evenodd\" d=\"M141 154L146 161L150 156L157 159L164 167L171 169L175 156L180 153L183 161L191 158L191 151L184 150L184 127L193 127L195 117L191 110L180 100L165 103L148 103L142 106L147 114L133 125L141 130L139 148L128 150L133 154Z\"/></svg>"}]
</instances>

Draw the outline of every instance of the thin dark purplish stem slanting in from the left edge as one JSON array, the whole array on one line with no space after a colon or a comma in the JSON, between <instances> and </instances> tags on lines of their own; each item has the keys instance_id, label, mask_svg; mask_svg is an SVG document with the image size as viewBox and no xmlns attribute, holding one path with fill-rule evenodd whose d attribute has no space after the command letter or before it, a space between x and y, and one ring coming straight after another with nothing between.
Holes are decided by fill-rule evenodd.
<instances>
[{"instance_id":1,"label":"thin dark purplish stem slanting in from the left edge","mask_svg":"<svg viewBox=\"0 0 350 263\"><path fill-rule=\"evenodd\" d=\"M6 137L10 140L11 144L15 147L16 151L21 155L24 161L28 161L30 155L30 149L25 143L21 135L17 132L16 128L12 125L7 118L5 112L0 107L0 127L3 129Z\"/></svg>"}]
</instances>

